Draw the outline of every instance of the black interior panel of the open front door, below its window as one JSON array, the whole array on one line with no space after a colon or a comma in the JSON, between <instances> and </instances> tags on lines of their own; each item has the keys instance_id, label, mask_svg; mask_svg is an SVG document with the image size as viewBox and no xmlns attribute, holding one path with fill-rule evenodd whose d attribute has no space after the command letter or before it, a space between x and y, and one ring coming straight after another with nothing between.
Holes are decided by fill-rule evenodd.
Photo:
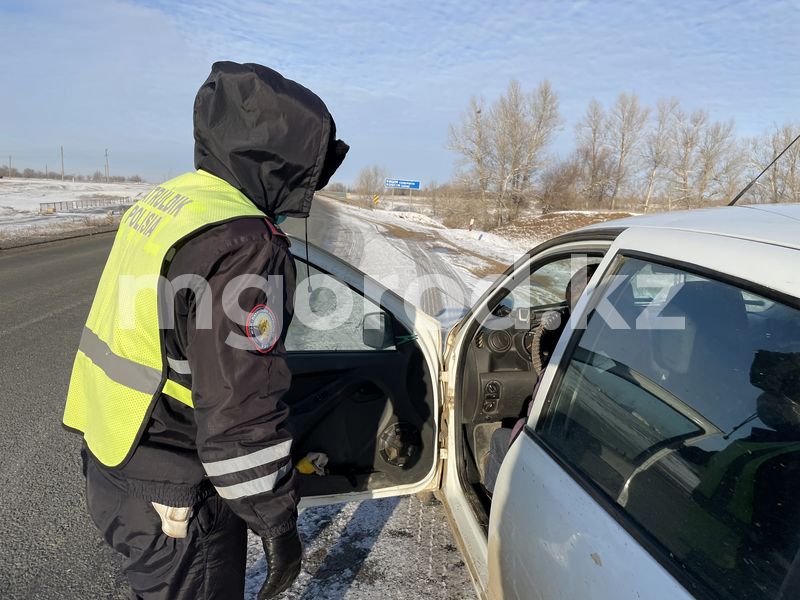
<instances>
[{"instance_id":1,"label":"black interior panel of the open front door, below its window","mask_svg":"<svg viewBox=\"0 0 800 600\"><path fill-rule=\"evenodd\" d=\"M295 462L328 457L329 474L301 476L304 497L424 479L435 456L432 383L415 344L364 352L290 352Z\"/></svg>"}]
</instances>

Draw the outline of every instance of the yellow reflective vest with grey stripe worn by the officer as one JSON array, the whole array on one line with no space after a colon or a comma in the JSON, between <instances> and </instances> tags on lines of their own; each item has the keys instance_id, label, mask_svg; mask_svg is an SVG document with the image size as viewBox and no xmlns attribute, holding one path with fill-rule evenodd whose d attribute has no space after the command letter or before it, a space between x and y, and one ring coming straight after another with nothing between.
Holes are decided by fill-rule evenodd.
<instances>
[{"instance_id":1,"label":"yellow reflective vest with grey stripe worn by the officer","mask_svg":"<svg viewBox=\"0 0 800 600\"><path fill-rule=\"evenodd\" d=\"M130 456L160 394L192 406L191 390L167 377L159 323L162 276L182 240L242 217L266 215L205 171L161 184L125 213L81 336L64 409L64 424L83 434L104 465L118 466Z\"/></svg>"}]
</instances>

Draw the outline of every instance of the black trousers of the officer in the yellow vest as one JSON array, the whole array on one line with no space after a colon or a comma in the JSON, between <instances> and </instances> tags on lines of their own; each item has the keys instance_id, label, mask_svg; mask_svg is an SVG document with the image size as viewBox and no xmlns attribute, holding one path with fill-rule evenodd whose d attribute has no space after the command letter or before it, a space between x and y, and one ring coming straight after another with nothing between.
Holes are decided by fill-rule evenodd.
<instances>
[{"instance_id":1,"label":"black trousers of the officer in the yellow vest","mask_svg":"<svg viewBox=\"0 0 800 600\"><path fill-rule=\"evenodd\" d=\"M244 596L247 528L216 494L194 507L185 538L161 531L146 500L86 461L89 514L105 541L124 557L132 598L229 600Z\"/></svg>"}]
</instances>

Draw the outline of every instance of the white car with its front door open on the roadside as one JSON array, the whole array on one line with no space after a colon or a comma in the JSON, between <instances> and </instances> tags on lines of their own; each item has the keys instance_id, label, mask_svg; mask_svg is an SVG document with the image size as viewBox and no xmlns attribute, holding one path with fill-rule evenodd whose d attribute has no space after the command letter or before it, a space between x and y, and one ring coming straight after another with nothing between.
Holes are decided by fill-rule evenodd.
<instances>
[{"instance_id":1,"label":"white car with its front door open on the roadside","mask_svg":"<svg viewBox=\"0 0 800 600\"><path fill-rule=\"evenodd\" d=\"M293 453L327 459L302 506L435 491L480 597L800 597L800 205L561 235L444 342L292 248L314 280L286 341Z\"/></svg>"}]
</instances>

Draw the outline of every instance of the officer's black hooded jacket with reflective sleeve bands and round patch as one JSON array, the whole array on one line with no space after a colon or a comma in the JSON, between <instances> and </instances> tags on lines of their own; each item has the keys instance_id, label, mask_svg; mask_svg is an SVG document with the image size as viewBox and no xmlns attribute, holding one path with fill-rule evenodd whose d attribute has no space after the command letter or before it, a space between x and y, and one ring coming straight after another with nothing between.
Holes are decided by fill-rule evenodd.
<instances>
[{"instance_id":1,"label":"officer's black hooded jacket with reflective sleeve bands and round patch","mask_svg":"<svg viewBox=\"0 0 800 600\"><path fill-rule=\"evenodd\" d=\"M347 152L335 134L322 100L259 65L215 63L195 100L195 166L242 191L273 219L308 215L314 191ZM102 471L127 493L168 506L194 506L215 489L237 496L228 503L250 529L279 535L294 525L298 500L291 459L269 450L291 440L281 400L291 383L283 347L295 289L288 240L263 219L211 227L177 248L167 269L170 280L189 274L209 284L213 327L195 327L197 299L181 290L164 344L177 365L169 376L191 387L194 409L162 395L131 458ZM283 278L278 301L259 288L238 298L245 312L267 304L282 317L281 337L267 352L227 343L231 332L247 335L247 325L229 318L223 306L223 290L241 275ZM266 489L263 482L272 480Z\"/></svg>"}]
</instances>

